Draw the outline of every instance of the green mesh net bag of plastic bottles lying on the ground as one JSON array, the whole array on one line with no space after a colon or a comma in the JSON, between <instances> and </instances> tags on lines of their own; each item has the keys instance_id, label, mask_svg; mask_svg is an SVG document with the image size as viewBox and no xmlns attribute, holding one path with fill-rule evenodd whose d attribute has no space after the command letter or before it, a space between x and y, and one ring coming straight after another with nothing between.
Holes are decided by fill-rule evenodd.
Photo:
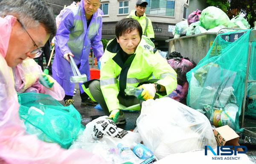
<instances>
[{"instance_id":1,"label":"green mesh net bag of plastic bottles lying on the ground","mask_svg":"<svg viewBox=\"0 0 256 164\"><path fill-rule=\"evenodd\" d=\"M19 114L26 131L46 142L68 148L80 130L81 115L74 106L63 106L49 95L41 93L18 94Z\"/></svg>"}]
</instances>

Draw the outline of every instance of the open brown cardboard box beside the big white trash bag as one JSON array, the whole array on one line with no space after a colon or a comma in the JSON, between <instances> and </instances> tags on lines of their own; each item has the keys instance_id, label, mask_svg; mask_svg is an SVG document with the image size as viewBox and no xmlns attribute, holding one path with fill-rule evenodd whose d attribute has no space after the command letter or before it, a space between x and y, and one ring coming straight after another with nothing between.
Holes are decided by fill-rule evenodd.
<instances>
[{"instance_id":1,"label":"open brown cardboard box beside the big white trash bag","mask_svg":"<svg viewBox=\"0 0 256 164\"><path fill-rule=\"evenodd\" d=\"M218 146L240 146L238 143L239 135L228 125L213 129L213 133ZM243 151L241 148L238 151Z\"/></svg>"}]
</instances>

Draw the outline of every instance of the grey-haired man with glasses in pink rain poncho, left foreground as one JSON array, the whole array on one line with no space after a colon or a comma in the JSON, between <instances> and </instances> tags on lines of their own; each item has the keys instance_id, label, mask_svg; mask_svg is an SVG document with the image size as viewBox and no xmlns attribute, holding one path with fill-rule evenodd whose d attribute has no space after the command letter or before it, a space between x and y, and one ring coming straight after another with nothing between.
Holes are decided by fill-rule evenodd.
<instances>
[{"instance_id":1,"label":"grey-haired man with glasses in pink rain poncho, left foreground","mask_svg":"<svg viewBox=\"0 0 256 164\"><path fill-rule=\"evenodd\" d=\"M104 163L89 152L39 141L23 129L11 67L34 58L55 32L54 16L44 0L0 2L0 164Z\"/></svg>"}]
</instances>

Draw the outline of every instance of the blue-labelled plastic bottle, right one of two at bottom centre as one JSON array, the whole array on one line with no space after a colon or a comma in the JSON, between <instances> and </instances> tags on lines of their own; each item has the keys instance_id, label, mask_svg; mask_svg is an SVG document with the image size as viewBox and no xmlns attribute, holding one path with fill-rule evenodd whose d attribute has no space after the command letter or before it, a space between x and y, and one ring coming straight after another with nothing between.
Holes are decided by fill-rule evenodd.
<instances>
[{"instance_id":1,"label":"blue-labelled plastic bottle, right one of two at bottom centre","mask_svg":"<svg viewBox=\"0 0 256 164\"><path fill-rule=\"evenodd\" d=\"M132 149L134 154L136 154L140 159L148 159L151 157L153 152L145 147L143 144L136 144L135 142L132 144Z\"/></svg>"}]
</instances>

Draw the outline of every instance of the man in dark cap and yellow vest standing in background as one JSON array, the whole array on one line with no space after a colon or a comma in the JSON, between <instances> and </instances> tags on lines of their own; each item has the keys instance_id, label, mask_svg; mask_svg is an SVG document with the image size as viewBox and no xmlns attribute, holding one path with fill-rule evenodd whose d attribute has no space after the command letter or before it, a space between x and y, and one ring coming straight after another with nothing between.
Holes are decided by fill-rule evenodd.
<instances>
[{"instance_id":1,"label":"man in dark cap and yellow vest standing in background","mask_svg":"<svg viewBox=\"0 0 256 164\"><path fill-rule=\"evenodd\" d=\"M154 42L154 30L151 20L146 17L145 11L148 3L146 0L138 0L136 3L136 10L132 10L131 14L127 16L136 19L142 27L143 35L150 38Z\"/></svg>"}]
</instances>

